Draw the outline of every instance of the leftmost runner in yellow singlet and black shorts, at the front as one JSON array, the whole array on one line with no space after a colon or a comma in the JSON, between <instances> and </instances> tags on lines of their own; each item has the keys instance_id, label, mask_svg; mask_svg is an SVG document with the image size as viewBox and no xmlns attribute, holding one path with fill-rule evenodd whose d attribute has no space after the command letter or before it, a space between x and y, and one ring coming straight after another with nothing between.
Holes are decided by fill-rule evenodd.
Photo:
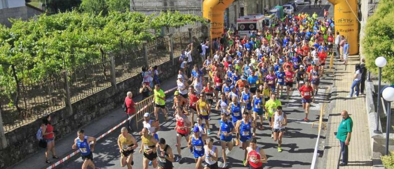
<instances>
[{"instance_id":1,"label":"leftmost runner in yellow singlet and black shorts, at the front","mask_svg":"<svg viewBox=\"0 0 394 169\"><path fill-rule=\"evenodd\" d=\"M121 166L132 169L134 148L138 147L138 143L133 135L129 134L126 127L121 129L118 137L119 152L121 153Z\"/></svg>"}]
</instances>

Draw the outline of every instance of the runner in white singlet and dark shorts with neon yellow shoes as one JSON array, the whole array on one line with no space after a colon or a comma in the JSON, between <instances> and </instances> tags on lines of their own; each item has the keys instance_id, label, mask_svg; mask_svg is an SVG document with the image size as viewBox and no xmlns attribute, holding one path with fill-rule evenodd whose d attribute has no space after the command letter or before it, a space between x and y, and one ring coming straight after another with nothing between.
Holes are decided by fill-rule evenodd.
<instances>
[{"instance_id":1,"label":"runner in white singlet and dark shorts with neon yellow shoes","mask_svg":"<svg viewBox=\"0 0 394 169\"><path fill-rule=\"evenodd\" d=\"M286 114L282 112L282 106L276 108L271 120L271 128L273 131L273 141L278 141L278 152L282 152L282 137L284 133L285 126L287 125Z\"/></svg>"}]
</instances>

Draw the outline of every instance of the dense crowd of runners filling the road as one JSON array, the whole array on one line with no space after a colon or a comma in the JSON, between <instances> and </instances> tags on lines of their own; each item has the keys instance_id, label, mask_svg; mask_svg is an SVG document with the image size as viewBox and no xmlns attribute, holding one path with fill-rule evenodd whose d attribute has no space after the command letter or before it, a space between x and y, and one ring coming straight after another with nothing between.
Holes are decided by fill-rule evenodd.
<instances>
[{"instance_id":1,"label":"dense crowd of runners filling the road","mask_svg":"<svg viewBox=\"0 0 394 169\"><path fill-rule=\"evenodd\" d=\"M165 93L160 85L153 85L153 78L144 77L142 91L154 92L154 117L144 114L143 130L140 131L143 153L143 168L149 165L159 169L173 168L173 162L182 160L181 139L187 142L193 153L197 169L217 169L220 157L223 168L229 164L226 150L240 146L244 150L243 165L260 169L267 163L267 156L256 142L256 130L270 128L271 138L282 152L282 136L287 126L287 116L282 111L281 100L288 100L293 91L301 96L305 118L308 121L309 106L318 94L320 79L324 73L325 61L332 53L334 44L334 21L324 17L318 20L316 13L288 15L265 26L257 32L239 36L229 30L223 38L204 41L197 48L202 65L191 63L193 44L180 56L181 68L177 76L177 91L173 98L173 109L177 137L173 147L157 134L160 123L168 118ZM213 54L208 56L208 51ZM152 72L155 68L152 68ZM215 109L216 111L212 111ZM220 146L213 145L210 116L219 111ZM164 119L158 117L164 114ZM268 126L264 126L264 120ZM89 146L89 143L93 142ZM118 138L121 165L128 169L133 165L133 152L138 147L136 139L121 129ZM92 151L95 138L78 131L73 148L79 148L84 164L93 164ZM174 148L175 148L174 147ZM175 151L175 152L174 152ZM177 153L177 156L175 156ZM176 157L176 158L175 158Z\"/></svg>"}]
</instances>

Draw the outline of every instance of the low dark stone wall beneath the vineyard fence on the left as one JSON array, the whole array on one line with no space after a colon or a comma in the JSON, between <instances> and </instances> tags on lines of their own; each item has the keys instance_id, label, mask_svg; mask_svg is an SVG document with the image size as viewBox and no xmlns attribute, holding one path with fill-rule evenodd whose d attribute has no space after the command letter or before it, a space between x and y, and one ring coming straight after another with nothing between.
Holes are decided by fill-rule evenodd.
<instances>
[{"instance_id":1,"label":"low dark stone wall beneath the vineyard fence on the left","mask_svg":"<svg viewBox=\"0 0 394 169\"><path fill-rule=\"evenodd\" d=\"M193 37L193 41L197 46L201 37ZM197 50L194 50L193 60L198 60L197 58L199 58L199 54ZM171 60L159 65L159 69L162 71L160 75L162 81L178 73L180 63L178 58L174 58L174 60L174 65ZM138 93L141 81L142 75L138 74L117 83L117 90L114 87L108 87L78 100L72 103L73 114L67 112L65 108L52 112L50 114L52 121L56 122L52 124L55 128L56 139L59 140L78 128L94 122L95 119L122 105L128 91L134 94ZM42 118L5 134L8 146L0 150L0 168L9 167L39 149L35 133L41 122Z\"/></svg>"}]
</instances>

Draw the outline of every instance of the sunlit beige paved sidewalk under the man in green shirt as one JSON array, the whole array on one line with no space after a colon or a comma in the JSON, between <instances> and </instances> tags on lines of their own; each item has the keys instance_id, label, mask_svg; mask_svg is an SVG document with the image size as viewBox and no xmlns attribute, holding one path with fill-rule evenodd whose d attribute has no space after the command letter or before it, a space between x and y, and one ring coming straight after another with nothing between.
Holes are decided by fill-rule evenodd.
<instances>
[{"instance_id":1,"label":"sunlit beige paved sidewalk under the man in green shirt","mask_svg":"<svg viewBox=\"0 0 394 169\"><path fill-rule=\"evenodd\" d=\"M344 169L370 169L372 160L370 159L370 136L368 131L368 116L365 114L365 96L359 95L358 98L346 98L350 92L350 86L353 82L355 64L359 64L359 56L350 56L348 66L342 62L336 62L335 87L336 92L332 94L332 101L335 101L335 107L329 114L329 124L327 124L327 137L325 145L325 154L327 158L327 169L338 167L338 158L340 154L340 143L335 134L338 126L342 121L340 112L347 110L353 120L353 132L349 143L349 162L348 166L340 167Z\"/></svg>"}]
</instances>

